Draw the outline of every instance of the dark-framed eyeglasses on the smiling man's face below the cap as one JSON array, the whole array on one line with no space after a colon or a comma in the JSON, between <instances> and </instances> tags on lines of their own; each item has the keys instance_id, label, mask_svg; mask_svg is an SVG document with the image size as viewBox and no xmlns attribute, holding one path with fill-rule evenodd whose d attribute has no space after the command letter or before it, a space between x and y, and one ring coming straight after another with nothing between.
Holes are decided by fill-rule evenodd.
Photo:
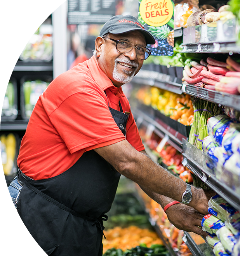
<instances>
[{"instance_id":1,"label":"dark-framed eyeglasses on the smiling man's face below the cap","mask_svg":"<svg viewBox=\"0 0 240 256\"><path fill-rule=\"evenodd\" d=\"M133 48L136 49L136 55L137 58L139 58L140 60L146 60L149 55L151 54L150 49L148 49L147 47L144 46L136 46L136 44L132 44L129 41L126 40L114 40L111 39L109 37L105 37L105 39L110 39L113 42L116 43L116 49L117 51L119 51L120 53L129 53L130 51L132 51Z\"/></svg>"}]
</instances>

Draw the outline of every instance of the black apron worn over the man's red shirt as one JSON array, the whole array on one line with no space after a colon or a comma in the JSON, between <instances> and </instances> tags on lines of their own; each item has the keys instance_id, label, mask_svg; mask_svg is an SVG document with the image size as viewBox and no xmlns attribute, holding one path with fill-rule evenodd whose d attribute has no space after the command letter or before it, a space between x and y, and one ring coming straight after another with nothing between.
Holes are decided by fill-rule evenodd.
<instances>
[{"instance_id":1,"label":"black apron worn over the man's red shirt","mask_svg":"<svg viewBox=\"0 0 240 256\"><path fill-rule=\"evenodd\" d=\"M128 115L109 109L126 135ZM101 256L104 214L111 208L120 175L94 150L49 179L34 181L19 170L23 188L11 256Z\"/></svg>"}]
</instances>

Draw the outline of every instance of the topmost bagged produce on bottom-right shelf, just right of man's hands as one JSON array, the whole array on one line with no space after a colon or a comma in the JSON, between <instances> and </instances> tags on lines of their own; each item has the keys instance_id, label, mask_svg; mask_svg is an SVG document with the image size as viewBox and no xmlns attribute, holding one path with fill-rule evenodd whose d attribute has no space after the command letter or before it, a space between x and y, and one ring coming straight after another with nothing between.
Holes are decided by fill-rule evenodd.
<instances>
[{"instance_id":1,"label":"topmost bagged produce on bottom-right shelf, just right of man's hands","mask_svg":"<svg viewBox=\"0 0 240 256\"><path fill-rule=\"evenodd\" d=\"M209 213L224 221L225 226L235 237L240 235L240 213L221 196L216 195L209 200Z\"/></svg>"}]
</instances>

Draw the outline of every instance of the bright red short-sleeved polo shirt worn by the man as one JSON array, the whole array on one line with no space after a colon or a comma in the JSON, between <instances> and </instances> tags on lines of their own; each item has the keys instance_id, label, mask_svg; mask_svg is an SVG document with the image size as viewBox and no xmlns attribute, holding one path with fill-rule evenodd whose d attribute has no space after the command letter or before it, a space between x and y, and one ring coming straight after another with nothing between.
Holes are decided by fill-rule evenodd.
<instances>
[{"instance_id":1,"label":"bright red short-sleeved polo shirt worn by the man","mask_svg":"<svg viewBox=\"0 0 240 256\"><path fill-rule=\"evenodd\" d=\"M119 100L123 112L130 112L122 88L113 86L94 56L59 75L35 105L21 142L18 167L32 179L47 179L68 170L85 151L124 139L137 151L143 150L132 113L125 138L108 109L109 103L120 110Z\"/></svg>"}]
</instances>

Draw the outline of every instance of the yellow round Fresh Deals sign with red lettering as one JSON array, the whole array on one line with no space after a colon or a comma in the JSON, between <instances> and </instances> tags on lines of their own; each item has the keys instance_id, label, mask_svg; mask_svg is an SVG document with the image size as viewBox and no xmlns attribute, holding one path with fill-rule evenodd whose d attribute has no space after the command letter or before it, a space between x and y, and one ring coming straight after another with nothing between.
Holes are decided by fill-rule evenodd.
<instances>
[{"instance_id":1,"label":"yellow round Fresh Deals sign with red lettering","mask_svg":"<svg viewBox=\"0 0 240 256\"><path fill-rule=\"evenodd\" d=\"M142 0L139 12L142 19L150 26L163 26L173 15L171 0Z\"/></svg>"}]
</instances>

